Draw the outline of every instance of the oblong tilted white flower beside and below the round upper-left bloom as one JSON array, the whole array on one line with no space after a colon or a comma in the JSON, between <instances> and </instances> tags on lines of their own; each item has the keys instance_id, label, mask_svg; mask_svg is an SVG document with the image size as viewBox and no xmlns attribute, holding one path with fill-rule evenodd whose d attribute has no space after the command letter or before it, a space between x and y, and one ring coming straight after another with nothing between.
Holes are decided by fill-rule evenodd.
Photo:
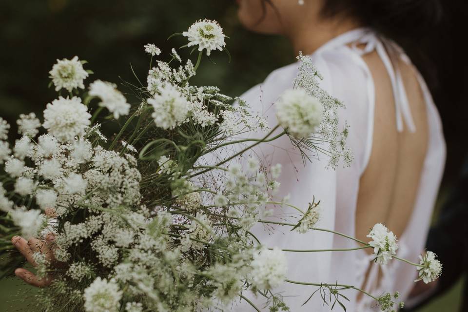
<instances>
[{"instance_id":1,"label":"oblong tilted white flower beside and below the round upper-left bloom","mask_svg":"<svg viewBox=\"0 0 468 312\"><path fill-rule=\"evenodd\" d=\"M96 80L89 85L89 95L101 99L99 106L105 107L114 114L114 118L128 115L130 104L117 90L117 85L107 81Z\"/></svg>"}]
</instances>

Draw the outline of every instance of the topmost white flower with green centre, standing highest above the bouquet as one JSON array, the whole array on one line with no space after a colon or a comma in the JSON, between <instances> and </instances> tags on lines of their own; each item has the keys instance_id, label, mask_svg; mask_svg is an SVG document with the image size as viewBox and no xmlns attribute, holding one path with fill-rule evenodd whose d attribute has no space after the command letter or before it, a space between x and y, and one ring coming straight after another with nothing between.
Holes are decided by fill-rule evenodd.
<instances>
[{"instance_id":1,"label":"topmost white flower with green centre, standing highest above the bouquet","mask_svg":"<svg viewBox=\"0 0 468 312\"><path fill-rule=\"evenodd\" d=\"M215 20L199 20L182 33L189 38L188 46L198 45L198 51L206 49L206 55L210 55L212 50L223 51L226 46L223 29Z\"/></svg>"}]
</instances>

